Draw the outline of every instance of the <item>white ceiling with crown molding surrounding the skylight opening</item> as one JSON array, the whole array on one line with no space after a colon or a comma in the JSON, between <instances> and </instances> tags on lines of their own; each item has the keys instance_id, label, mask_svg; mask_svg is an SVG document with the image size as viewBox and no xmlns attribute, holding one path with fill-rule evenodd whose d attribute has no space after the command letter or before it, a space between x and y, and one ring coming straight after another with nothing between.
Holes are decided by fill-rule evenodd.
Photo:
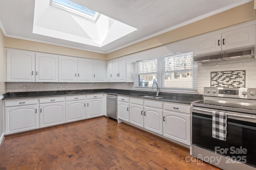
<instances>
[{"instance_id":1,"label":"white ceiling with crown molding surrounding the skylight opening","mask_svg":"<svg viewBox=\"0 0 256 170\"><path fill-rule=\"evenodd\" d=\"M109 53L251 0L71 0L137 28L103 47L32 33L34 0L0 0L0 28L6 37ZM131 2L126 2L131 1ZM42 9L44 10L44 9ZM50 17L50 16L49 16ZM47 22L47 18L45 18ZM63 18L65 20L65 18ZM61 25L60 25L61 27ZM74 26L74 34L78 28Z\"/></svg>"}]
</instances>

